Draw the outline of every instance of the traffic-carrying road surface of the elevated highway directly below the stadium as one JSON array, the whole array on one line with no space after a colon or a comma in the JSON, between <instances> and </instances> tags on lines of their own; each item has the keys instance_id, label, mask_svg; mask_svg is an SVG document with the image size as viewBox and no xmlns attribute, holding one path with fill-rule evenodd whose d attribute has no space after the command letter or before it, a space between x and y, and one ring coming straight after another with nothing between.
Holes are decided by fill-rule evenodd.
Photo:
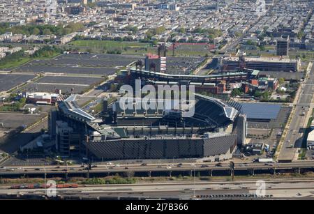
<instances>
[{"instance_id":1,"label":"traffic-carrying road surface of the elevated highway directly below the stadium","mask_svg":"<svg viewBox=\"0 0 314 214\"><path fill-rule=\"evenodd\" d=\"M235 163L234 171L252 171L252 170L278 170L278 169L314 169L314 161L297 161L289 163L255 163L244 162ZM41 166L41 167L1 167L0 176L24 175L24 174L102 174L102 173L118 173L118 172L158 172L158 171L230 171L228 162L217 165L215 163L184 163L180 165L170 164L147 164L147 165L92 165L91 170L86 165L72 166Z\"/></svg>"}]
</instances>

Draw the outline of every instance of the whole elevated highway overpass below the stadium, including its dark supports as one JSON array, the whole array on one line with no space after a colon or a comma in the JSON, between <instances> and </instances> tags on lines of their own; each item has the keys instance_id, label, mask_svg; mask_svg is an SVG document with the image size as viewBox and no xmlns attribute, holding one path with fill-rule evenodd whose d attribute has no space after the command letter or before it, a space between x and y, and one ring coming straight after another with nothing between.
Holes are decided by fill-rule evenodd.
<instances>
[{"instance_id":1,"label":"whole elevated highway overpass below the stadium, including its dark supports","mask_svg":"<svg viewBox=\"0 0 314 214\"><path fill-rule=\"evenodd\" d=\"M2 167L0 176L15 178L20 176L109 176L114 174L133 174L134 176L175 176L185 174L192 176L194 171L200 171L206 176L232 175L228 162L215 164L211 162L184 163L184 164L147 164L147 165L93 165L91 169L86 166L40 166L40 167ZM314 171L314 161L295 161L287 163L252 163L236 162L234 174L276 174L277 172Z\"/></svg>"}]
</instances>

